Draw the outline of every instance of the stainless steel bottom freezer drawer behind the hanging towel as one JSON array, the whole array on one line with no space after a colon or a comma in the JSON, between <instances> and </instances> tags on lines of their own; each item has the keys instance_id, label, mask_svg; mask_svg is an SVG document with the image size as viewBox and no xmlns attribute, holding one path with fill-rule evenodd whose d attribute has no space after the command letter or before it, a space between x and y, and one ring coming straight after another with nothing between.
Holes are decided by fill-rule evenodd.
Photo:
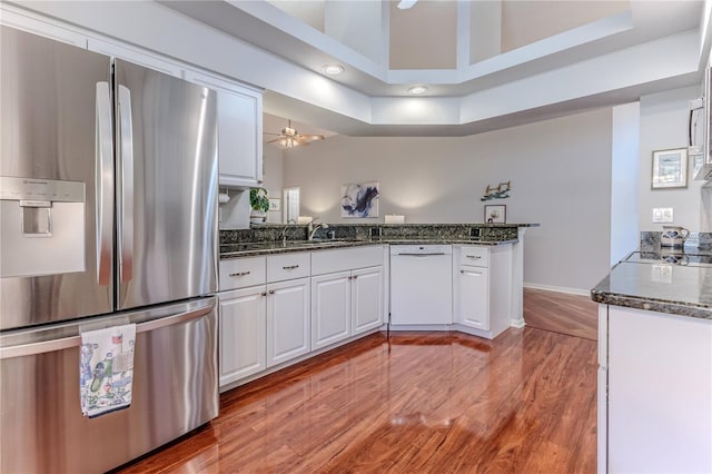
<instances>
[{"instance_id":1,"label":"stainless steel bottom freezer drawer behind the hanging towel","mask_svg":"<svg viewBox=\"0 0 712 474\"><path fill-rule=\"evenodd\" d=\"M70 325L48 329L58 336L50 340L8 346L3 336L0 409L2 431L12 435L0 437L0 472L105 472L216 417L215 298L202 302L137 325L131 406L96 418L80 409L78 325L73 334ZM136 322L131 316L82 328Z\"/></svg>"}]
</instances>

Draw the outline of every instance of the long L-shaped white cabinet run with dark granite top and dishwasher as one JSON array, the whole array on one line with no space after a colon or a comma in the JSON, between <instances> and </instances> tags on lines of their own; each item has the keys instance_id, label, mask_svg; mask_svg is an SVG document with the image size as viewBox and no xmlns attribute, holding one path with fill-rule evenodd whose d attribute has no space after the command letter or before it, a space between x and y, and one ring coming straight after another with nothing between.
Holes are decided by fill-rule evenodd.
<instances>
[{"instance_id":1,"label":"long L-shaped white cabinet run with dark granite top and dishwasher","mask_svg":"<svg viewBox=\"0 0 712 474\"><path fill-rule=\"evenodd\" d=\"M535 226L334 224L314 239L299 225L222 230L220 391L385 328L494 338L524 326L523 236ZM400 256L416 267L394 282ZM434 258L442 264L437 277L427 273ZM423 277L412 278L413 268L425 269ZM395 296L409 302L434 286L444 305L439 319L427 319L431 312L417 305L406 312L413 319L392 318Z\"/></svg>"}]
</instances>

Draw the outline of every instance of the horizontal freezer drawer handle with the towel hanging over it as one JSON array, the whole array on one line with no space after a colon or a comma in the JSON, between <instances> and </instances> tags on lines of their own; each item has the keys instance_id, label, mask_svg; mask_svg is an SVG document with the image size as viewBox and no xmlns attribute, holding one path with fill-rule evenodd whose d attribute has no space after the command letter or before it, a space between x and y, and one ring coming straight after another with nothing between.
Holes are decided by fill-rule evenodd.
<instances>
[{"instance_id":1,"label":"horizontal freezer drawer handle with the towel hanging over it","mask_svg":"<svg viewBox=\"0 0 712 474\"><path fill-rule=\"evenodd\" d=\"M177 315L167 316L158 319L151 319L146 323L136 325L136 334L148 333L150 330L160 329L161 327L172 326L176 324L187 323L192 319L198 319L205 315L210 314L214 310L214 305L200 306L196 309L179 313ZM117 323L119 324L119 323ZM107 326L110 327L110 326ZM92 327L91 329L98 329L100 327ZM59 339L43 340L39 343L21 344L17 346L0 347L0 361L12 357L24 357L37 354L46 354L57 350L63 350L71 347L81 346L81 335L62 337Z\"/></svg>"}]
</instances>

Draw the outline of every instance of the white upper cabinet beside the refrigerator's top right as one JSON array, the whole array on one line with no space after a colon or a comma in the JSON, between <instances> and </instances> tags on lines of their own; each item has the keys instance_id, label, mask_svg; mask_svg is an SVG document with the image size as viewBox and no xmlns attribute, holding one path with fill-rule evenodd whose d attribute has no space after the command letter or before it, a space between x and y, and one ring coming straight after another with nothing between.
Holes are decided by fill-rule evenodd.
<instances>
[{"instance_id":1,"label":"white upper cabinet beside the refrigerator's top right","mask_svg":"<svg viewBox=\"0 0 712 474\"><path fill-rule=\"evenodd\" d=\"M186 71L186 79L218 93L220 186L259 186L263 182L261 90L195 71Z\"/></svg>"}]
</instances>

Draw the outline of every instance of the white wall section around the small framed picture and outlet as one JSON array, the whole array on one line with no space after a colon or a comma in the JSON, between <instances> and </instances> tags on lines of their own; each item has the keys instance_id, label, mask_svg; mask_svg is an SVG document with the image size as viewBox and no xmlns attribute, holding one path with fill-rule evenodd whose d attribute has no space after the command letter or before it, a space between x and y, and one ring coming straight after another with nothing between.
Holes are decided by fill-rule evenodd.
<instances>
[{"instance_id":1,"label":"white wall section around the small framed picture and outlet","mask_svg":"<svg viewBox=\"0 0 712 474\"><path fill-rule=\"evenodd\" d=\"M688 115L690 100L700 97L698 87L673 89L641 97L641 147L639 168L639 219L641 230L662 230L662 224L652 223L654 207L672 207L675 226L690 230L702 229L701 188L704 181L692 176L689 160L686 189L651 189L652 156L654 150L685 148L688 146Z\"/></svg>"}]
</instances>

